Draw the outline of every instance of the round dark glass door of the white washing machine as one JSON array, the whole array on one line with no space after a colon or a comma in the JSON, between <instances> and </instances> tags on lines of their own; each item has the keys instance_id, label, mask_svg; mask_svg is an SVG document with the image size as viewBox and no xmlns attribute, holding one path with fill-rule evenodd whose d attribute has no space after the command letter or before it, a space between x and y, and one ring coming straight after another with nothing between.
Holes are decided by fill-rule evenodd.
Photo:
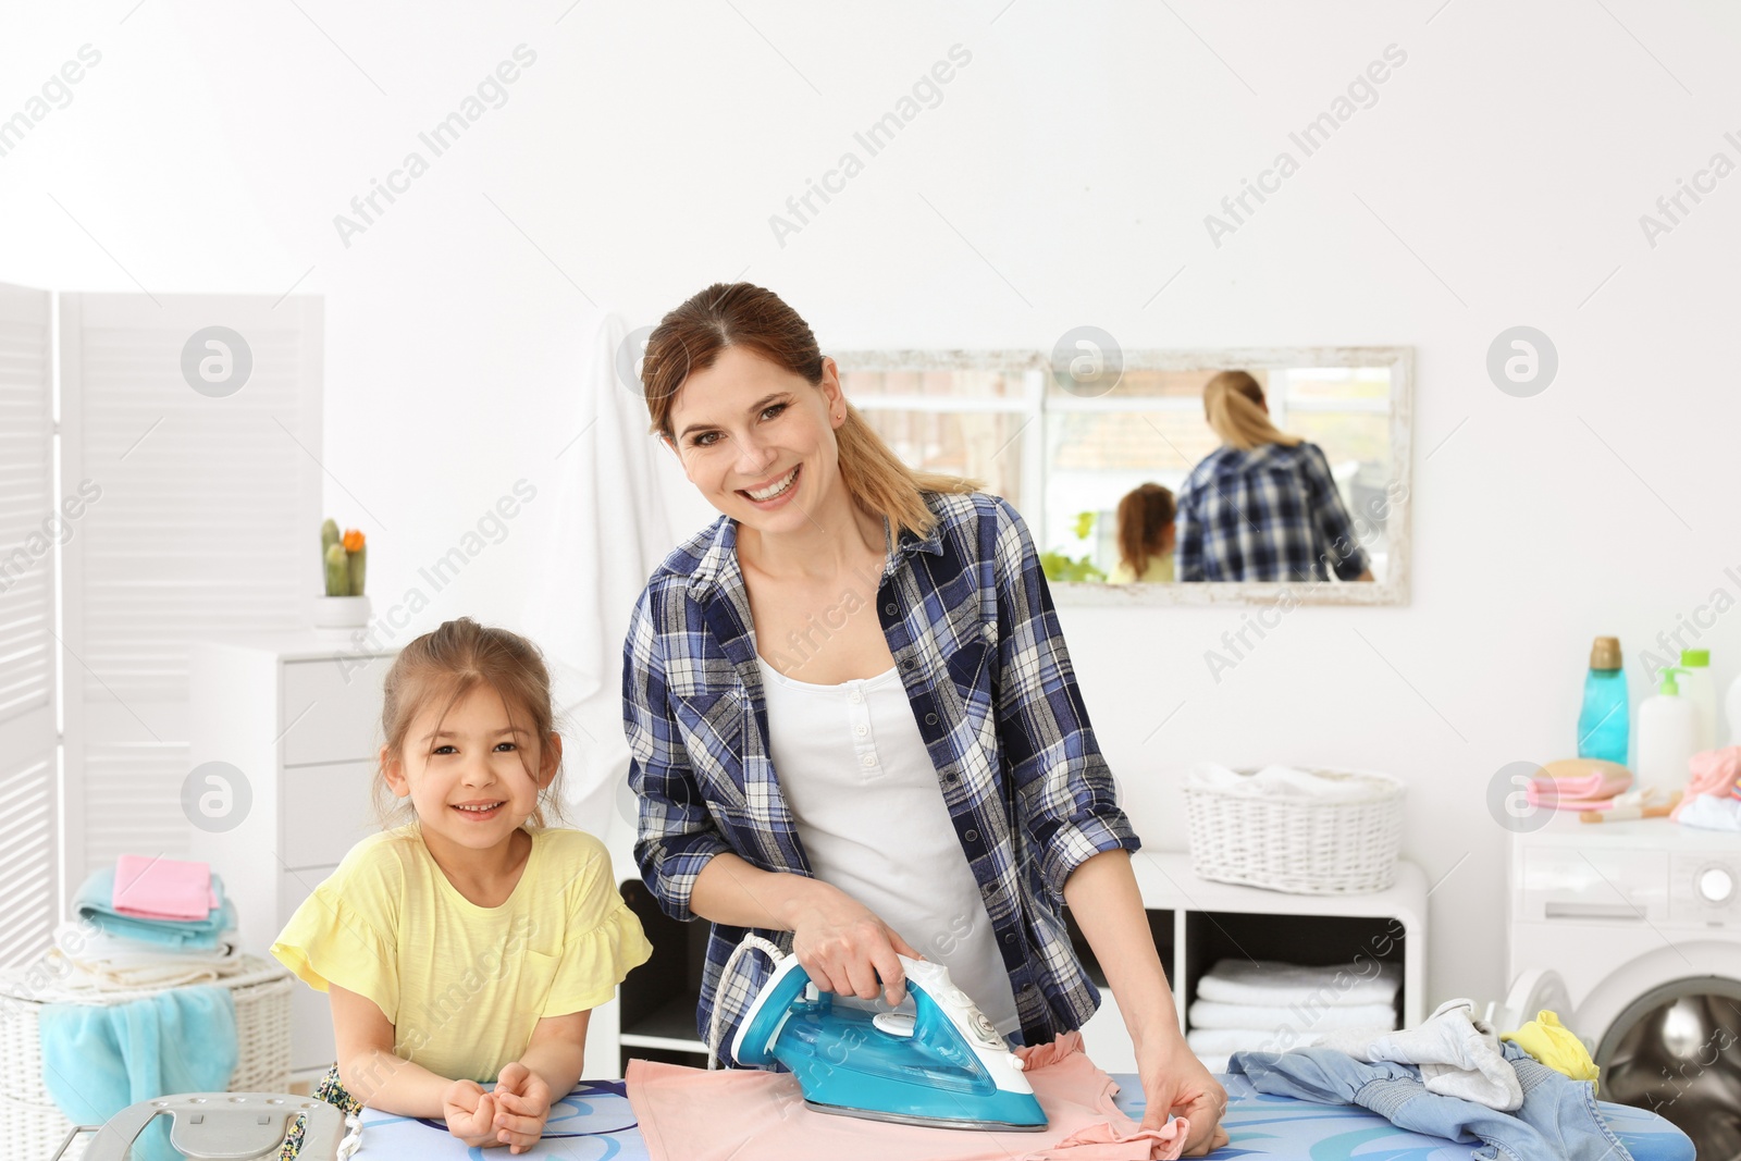
<instances>
[{"instance_id":1,"label":"round dark glass door of the white washing machine","mask_svg":"<svg viewBox=\"0 0 1741 1161\"><path fill-rule=\"evenodd\" d=\"M1650 989L1596 1046L1603 1100L1650 1109L1697 1145L1741 1161L1741 982L1691 976Z\"/></svg>"}]
</instances>

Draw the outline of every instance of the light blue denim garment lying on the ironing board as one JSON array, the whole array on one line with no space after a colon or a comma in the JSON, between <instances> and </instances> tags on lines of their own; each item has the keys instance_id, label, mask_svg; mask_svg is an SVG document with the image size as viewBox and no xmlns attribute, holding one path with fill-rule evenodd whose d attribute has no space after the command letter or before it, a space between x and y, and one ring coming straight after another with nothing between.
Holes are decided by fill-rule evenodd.
<instances>
[{"instance_id":1,"label":"light blue denim garment lying on the ironing board","mask_svg":"<svg viewBox=\"0 0 1741 1161\"><path fill-rule=\"evenodd\" d=\"M1631 1161L1596 1114L1595 1093L1586 1081L1572 1081L1522 1055L1534 1069L1520 1067L1506 1053L1523 1086L1523 1107L1515 1116L1461 1097L1429 1093L1415 1065L1393 1060L1367 1064L1330 1048L1238 1051L1227 1062L1227 1072L1243 1072L1260 1093L1360 1105L1398 1128L1457 1142L1480 1140L1487 1147L1475 1152L1476 1161Z\"/></svg>"}]
</instances>

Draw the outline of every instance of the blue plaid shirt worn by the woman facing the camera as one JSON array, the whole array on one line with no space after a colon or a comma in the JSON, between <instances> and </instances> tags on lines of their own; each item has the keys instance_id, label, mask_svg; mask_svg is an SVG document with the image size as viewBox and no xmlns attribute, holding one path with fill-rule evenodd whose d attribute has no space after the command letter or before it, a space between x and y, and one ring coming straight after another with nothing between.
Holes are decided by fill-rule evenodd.
<instances>
[{"instance_id":1,"label":"blue plaid shirt worn by the woman facing the camera","mask_svg":"<svg viewBox=\"0 0 1741 1161\"><path fill-rule=\"evenodd\" d=\"M1090 856L1140 846L1118 808L1022 517L985 493L926 493L930 536L904 533L876 607L961 853L1003 952L1025 1043L1081 1027L1100 1004L1060 916L1064 881ZM635 862L676 919L714 855L811 874L768 755L768 712L736 524L721 517L667 557L623 642ZM900 858L900 836L874 836ZM754 931L712 924L696 1029L707 1037L728 956ZM740 956L723 996L719 1055L768 978Z\"/></svg>"}]
</instances>

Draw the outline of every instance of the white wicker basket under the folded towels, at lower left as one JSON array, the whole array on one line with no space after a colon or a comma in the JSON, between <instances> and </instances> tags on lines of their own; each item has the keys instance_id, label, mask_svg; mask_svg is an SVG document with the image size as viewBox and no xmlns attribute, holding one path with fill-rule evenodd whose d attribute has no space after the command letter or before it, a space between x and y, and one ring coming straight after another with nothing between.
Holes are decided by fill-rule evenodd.
<instances>
[{"instance_id":1,"label":"white wicker basket under the folded towels, at lower left","mask_svg":"<svg viewBox=\"0 0 1741 1161\"><path fill-rule=\"evenodd\" d=\"M242 971L214 980L211 987L228 987L235 1001L237 1065L226 1091L282 1093L291 1083L291 992L296 976L275 961L242 956ZM0 1159L52 1158L73 1128L42 1086L37 1010L42 1004L124 1004L165 990L42 989L28 983L17 968L0 973L0 1116L9 1130L0 1133ZM82 1156L89 1137L75 1140L66 1156Z\"/></svg>"}]
</instances>

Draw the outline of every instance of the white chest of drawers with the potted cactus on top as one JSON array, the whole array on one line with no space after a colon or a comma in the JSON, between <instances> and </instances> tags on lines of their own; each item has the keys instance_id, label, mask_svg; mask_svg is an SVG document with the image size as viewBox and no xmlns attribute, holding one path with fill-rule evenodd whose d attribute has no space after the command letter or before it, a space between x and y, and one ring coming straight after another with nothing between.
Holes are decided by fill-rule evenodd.
<instances>
[{"instance_id":1,"label":"white chest of drawers with the potted cactus on top","mask_svg":"<svg viewBox=\"0 0 1741 1161\"><path fill-rule=\"evenodd\" d=\"M268 956L296 907L359 839L380 830L369 787L392 658L390 649L357 653L312 632L190 648L190 769L211 797L188 811L188 846L223 876L247 952ZM202 771L207 762L233 769ZM207 773L235 785L207 782ZM333 1058L327 999L299 985L291 1069L326 1069Z\"/></svg>"}]
</instances>

